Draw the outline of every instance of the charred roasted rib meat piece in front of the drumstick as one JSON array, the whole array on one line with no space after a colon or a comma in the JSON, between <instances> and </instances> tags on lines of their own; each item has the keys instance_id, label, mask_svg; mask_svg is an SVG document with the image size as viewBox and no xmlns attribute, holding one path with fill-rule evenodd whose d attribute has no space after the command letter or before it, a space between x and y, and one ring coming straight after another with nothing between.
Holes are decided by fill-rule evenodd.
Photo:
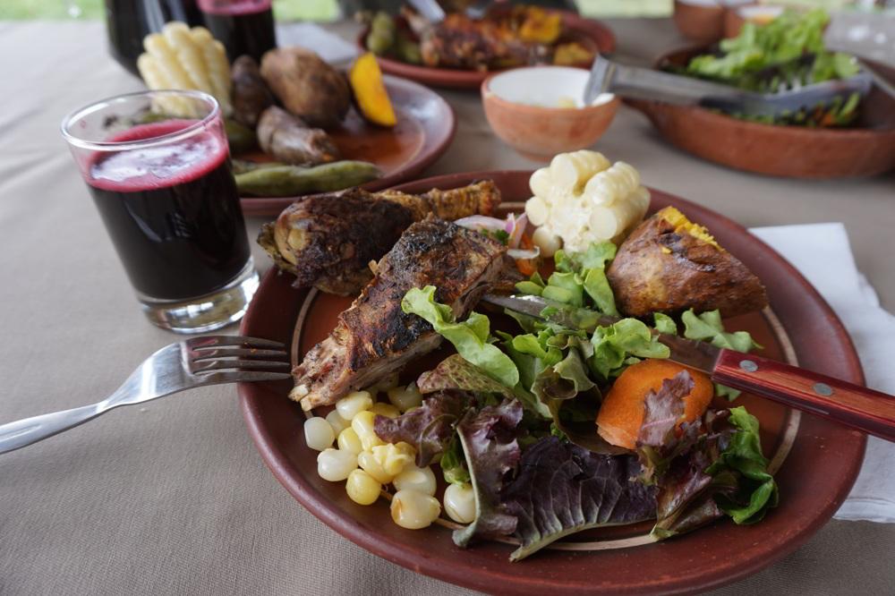
<instances>
[{"instance_id":1,"label":"charred roasted rib meat piece in front of the drumstick","mask_svg":"<svg viewBox=\"0 0 895 596\"><path fill-rule=\"evenodd\" d=\"M338 316L332 333L294 368L289 396L305 410L333 404L438 347L441 336L431 325L401 310L414 287L434 285L435 300L464 319L515 268L507 248L482 234L432 216L413 224L379 261L370 285Z\"/></svg>"}]
</instances>

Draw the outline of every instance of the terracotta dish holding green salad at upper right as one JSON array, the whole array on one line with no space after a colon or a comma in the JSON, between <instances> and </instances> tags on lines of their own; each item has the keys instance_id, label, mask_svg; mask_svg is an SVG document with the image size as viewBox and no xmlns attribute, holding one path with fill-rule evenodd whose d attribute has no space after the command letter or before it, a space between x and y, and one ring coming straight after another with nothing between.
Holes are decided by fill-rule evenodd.
<instances>
[{"instance_id":1,"label":"terracotta dish holding green salad at upper right","mask_svg":"<svg viewBox=\"0 0 895 596\"><path fill-rule=\"evenodd\" d=\"M686 64L707 47L659 56L656 65ZM895 70L874 69L895 81ZM791 178L847 178L895 168L895 99L875 89L853 128L810 129L737 120L700 107L628 99L669 142L703 159L756 174Z\"/></svg>"}]
</instances>

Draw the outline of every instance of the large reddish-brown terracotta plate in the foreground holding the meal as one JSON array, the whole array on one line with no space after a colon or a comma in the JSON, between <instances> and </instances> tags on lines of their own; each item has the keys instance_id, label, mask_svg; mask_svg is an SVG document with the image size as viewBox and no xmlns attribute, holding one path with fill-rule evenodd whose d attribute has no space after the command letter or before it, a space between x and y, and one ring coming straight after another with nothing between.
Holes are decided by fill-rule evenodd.
<instances>
[{"instance_id":1,"label":"large reddish-brown terracotta plate in the foreground holding the meal","mask_svg":"<svg viewBox=\"0 0 895 596\"><path fill-rule=\"evenodd\" d=\"M492 179L506 201L527 199L531 172L482 172L430 178L400 187L422 192ZM771 358L861 383L857 353L839 319L787 261L746 230L694 203L652 192L652 209L674 205L712 230L767 285L771 310L731 319L746 329ZM522 204L508 206L521 209ZM294 289L291 276L274 271L243 319L241 333L292 346L294 362L336 324L350 298ZM495 317L494 325L501 322ZM439 362L447 350L406 371L402 381ZM304 445L301 407L286 397L288 381L239 387L243 416L270 469L312 514L365 549L427 575L501 594L554 591L573 594L697 592L732 583L769 566L805 541L830 519L847 496L864 456L866 438L857 431L789 410L754 396L741 396L762 423L765 455L780 483L780 507L761 524L737 526L722 520L696 532L652 544L650 524L582 532L554 543L519 563L507 559L514 547L485 542L459 549L453 524L441 521L422 531L404 530L391 520L388 501L362 507L345 494L344 482L323 481L316 456ZM323 415L326 410L315 413ZM443 487L442 487L443 489ZM440 493L439 493L440 494ZM302 540L296 537L296 540Z\"/></svg>"}]
</instances>

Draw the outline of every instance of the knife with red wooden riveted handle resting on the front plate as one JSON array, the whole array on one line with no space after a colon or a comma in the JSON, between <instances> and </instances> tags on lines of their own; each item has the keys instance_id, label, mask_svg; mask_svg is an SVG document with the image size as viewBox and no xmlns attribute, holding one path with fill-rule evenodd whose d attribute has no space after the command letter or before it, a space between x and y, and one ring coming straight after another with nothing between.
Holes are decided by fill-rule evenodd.
<instances>
[{"instance_id":1,"label":"knife with red wooden riveted handle resting on the front plate","mask_svg":"<svg viewBox=\"0 0 895 596\"><path fill-rule=\"evenodd\" d=\"M534 295L489 294L484 302L588 333L620 320ZM669 346L670 360L702 370L716 383L895 441L895 396L754 354L652 332Z\"/></svg>"}]
</instances>

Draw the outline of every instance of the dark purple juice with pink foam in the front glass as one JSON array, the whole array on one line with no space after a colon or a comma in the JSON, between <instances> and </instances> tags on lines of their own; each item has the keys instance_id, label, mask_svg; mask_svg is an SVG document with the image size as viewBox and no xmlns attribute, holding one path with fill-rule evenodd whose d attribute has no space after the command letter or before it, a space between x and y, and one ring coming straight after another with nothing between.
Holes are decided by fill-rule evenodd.
<instances>
[{"instance_id":1,"label":"dark purple juice with pink foam in the front glass","mask_svg":"<svg viewBox=\"0 0 895 596\"><path fill-rule=\"evenodd\" d=\"M154 139L196 123L141 124L109 139ZM97 153L87 183L134 288L162 300L209 294L249 259L226 140L194 134L163 146Z\"/></svg>"}]
</instances>

